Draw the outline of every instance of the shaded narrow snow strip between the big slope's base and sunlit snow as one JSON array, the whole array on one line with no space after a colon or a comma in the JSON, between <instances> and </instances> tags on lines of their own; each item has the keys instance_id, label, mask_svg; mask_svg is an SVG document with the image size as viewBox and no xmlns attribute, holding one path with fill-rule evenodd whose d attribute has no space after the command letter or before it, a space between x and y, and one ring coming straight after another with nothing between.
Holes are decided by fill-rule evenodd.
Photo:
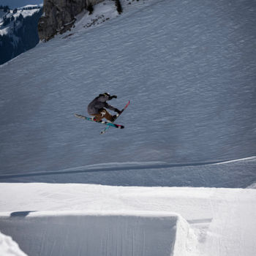
<instances>
[{"instance_id":1,"label":"shaded narrow snow strip between the big slope's base and sunlit snow","mask_svg":"<svg viewBox=\"0 0 256 256\"><path fill-rule=\"evenodd\" d=\"M256 161L85 168L1 175L0 183L77 183L138 187L246 188L256 181Z\"/></svg>"}]
</instances>

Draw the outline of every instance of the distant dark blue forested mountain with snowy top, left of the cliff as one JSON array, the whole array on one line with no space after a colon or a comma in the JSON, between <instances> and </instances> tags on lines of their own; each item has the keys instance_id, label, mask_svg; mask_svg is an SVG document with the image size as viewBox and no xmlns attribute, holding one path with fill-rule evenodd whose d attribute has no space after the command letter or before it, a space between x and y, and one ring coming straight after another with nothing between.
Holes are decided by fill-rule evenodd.
<instances>
[{"instance_id":1,"label":"distant dark blue forested mountain with snowy top, left of the cliff","mask_svg":"<svg viewBox=\"0 0 256 256\"><path fill-rule=\"evenodd\" d=\"M0 64L37 45L37 22L41 15L41 5L27 5L4 12L0 18Z\"/></svg>"}]
</instances>

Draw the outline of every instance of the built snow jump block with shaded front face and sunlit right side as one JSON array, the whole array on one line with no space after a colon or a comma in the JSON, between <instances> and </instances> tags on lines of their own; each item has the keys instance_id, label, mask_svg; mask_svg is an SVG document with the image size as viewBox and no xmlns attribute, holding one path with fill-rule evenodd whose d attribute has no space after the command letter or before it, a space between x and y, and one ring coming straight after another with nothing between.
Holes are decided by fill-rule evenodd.
<instances>
[{"instance_id":1,"label":"built snow jump block with shaded front face and sunlit right side","mask_svg":"<svg viewBox=\"0 0 256 256\"><path fill-rule=\"evenodd\" d=\"M1 214L0 230L28 255L183 256L189 225L178 214Z\"/></svg>"}]
</instances>

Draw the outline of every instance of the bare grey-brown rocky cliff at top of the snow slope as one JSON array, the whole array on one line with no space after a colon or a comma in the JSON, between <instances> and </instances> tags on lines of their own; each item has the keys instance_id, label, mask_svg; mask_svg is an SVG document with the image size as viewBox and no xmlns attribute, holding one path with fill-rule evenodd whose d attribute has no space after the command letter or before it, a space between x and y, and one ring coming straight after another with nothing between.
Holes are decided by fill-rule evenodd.
<instances>
[{"instance_id":1,"label":"bare grey-brown rocky cliff at top of the snow slope","mask_svg":"<svg viewBox=\"0 0 256 256\"><path fill-rule=\"evenodd\" d=\"M90 5L102 0L44 0L44 13L39 19L39 39L48 41L57 33L64 33L75 23L78 15Z\"/></svg>"}]
</instances>

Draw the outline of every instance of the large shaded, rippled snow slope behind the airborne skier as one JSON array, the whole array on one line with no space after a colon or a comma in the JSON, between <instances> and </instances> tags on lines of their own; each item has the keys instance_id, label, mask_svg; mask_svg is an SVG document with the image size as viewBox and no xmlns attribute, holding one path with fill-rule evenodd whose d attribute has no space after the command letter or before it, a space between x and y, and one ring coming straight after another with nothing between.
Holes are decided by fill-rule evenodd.
<instances>
[{"instance_id":1,"label":"large shaded, rippled snow slope behind the airborne skier","mask_svg":"<svg viewBox=\"0 0 256 256\"><path fill-rule=\"evenodd\" d=\"M255 155L255 1L135 10L0 67L1 173ZM104 91L131 105L102 137L73 114Z\"/></svg>"}]
</instances>

